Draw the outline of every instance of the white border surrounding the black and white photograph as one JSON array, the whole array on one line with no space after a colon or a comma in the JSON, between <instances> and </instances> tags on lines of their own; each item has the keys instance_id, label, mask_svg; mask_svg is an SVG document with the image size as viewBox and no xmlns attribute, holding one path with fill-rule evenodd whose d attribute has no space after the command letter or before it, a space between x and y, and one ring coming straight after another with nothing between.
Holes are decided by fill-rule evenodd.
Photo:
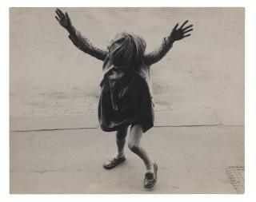
<instances>
[{"instance_id":1,"label":"white border surrounding the black and white photograph","mask_svg":"<svg viewBox=\"0 0 256 202\"><path fill-rule=\"evenodd\" d=\"M11 195L10 194L10 172L9 172L9 7L245 7L246 8L246 192L243 195ZM238 1L238 0L158 0L158 1L138 1L130 0L122 2L118 0L58 0L58 1L33 1L33 0L10 0L0 3L0 19L1 19L1 125L2 135L0 141L1 166L0 166L0 193L1 201L52 201L61 200L63 202L86 201L86 200L104 200L104 201L130 201L130 200L166 200L166 201L255 201L256 193L256 166L255 166L255 150L256 150L256 124L255 124L255 104L256 104L256 79L254 68L255 55L255 21L256 19L256 1Z\"/></svg>"}]
</instances>

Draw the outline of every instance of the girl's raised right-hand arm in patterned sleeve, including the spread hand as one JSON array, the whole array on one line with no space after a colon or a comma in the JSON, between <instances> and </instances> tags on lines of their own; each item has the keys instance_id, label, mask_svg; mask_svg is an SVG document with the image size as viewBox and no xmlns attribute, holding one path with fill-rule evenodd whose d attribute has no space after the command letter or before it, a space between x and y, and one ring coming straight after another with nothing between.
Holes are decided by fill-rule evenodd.
<instances>
[{"instance_id":1,"label":"girl's raised right-hand arm in patterned sleeve, including the spread hand","mask_svg":"<svg viewBox=\"0 0 256 202\"><path fill-rule=\"evenodd\" d=\"M193 25L184 27L187 22L188 21L184 22L180 28L178 28L178 24L176 24L170 35L163 39L162 45L157 50L154 50L153 52L144 55L146 65L152 65L160 61L162 57L164 57L166 53L171 49L175 41L181 40L182 38L186 38L191 35L186 33L193 30L192 28L190 29L190 27L192 27Z\"/></svg>"}]
</instances>

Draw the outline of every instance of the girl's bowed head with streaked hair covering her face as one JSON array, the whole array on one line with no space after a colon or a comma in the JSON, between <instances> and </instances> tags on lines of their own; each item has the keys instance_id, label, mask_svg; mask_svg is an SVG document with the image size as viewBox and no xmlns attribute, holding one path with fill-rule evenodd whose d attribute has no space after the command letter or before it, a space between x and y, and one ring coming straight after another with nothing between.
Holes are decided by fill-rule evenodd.
<instances>
[{"instance_id":1,"label":"girl's bowed head with streaked hair covering her face","mask_svg":"<svg viewBox=\"0 0 256 202\"><path fill-rule=\"evenodd\" d=\"M117 34L109 46L110 61L113 65L126 69L138 64L146 50L146 42L135 34Z\"/></svg>"}]
</instances>

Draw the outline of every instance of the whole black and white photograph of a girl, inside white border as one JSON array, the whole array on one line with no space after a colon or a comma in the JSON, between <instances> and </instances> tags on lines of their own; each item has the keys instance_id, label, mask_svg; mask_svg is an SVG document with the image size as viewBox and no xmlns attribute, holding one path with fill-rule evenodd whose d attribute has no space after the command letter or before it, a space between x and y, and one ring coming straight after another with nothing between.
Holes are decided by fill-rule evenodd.
<instances>
[{"instance_id":1,"label":"whole black and white photograph of a girl, inside white border","mask_svg":"<svg viewBox=\"0 0 256 202\"><path fill-rule=\"evenodd\" d=\"M10 7L11 194L243 194L244 7Z\"/></svg>"}]
</instances>

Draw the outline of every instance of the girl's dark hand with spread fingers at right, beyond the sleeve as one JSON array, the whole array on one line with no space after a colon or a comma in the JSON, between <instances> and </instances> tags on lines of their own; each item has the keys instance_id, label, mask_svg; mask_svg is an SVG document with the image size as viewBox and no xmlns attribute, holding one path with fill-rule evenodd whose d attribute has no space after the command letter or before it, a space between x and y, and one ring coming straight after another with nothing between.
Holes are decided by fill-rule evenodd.
<instances>
[{"instance_id":1,"label":"girl's dark hand with spread fingers at right, beyond the sleeve","mask_svg":"<svg viewBox=\"0 0 256 202\"><path fill-rule=\"evenodd\" d=\"M185 21L180 28L178 28L178 23L177 23L176 26L174 26L174 29L170 33L169 40L174 42L174 41L181 40L182 38L189 37L191 34L186 34L186 33L189 33L190 31L193 30L193 29L190 29L190 27L192 27L193 25L184 27L187 22L189 21L188 20Z\"/></svg>"}]
</instances>

